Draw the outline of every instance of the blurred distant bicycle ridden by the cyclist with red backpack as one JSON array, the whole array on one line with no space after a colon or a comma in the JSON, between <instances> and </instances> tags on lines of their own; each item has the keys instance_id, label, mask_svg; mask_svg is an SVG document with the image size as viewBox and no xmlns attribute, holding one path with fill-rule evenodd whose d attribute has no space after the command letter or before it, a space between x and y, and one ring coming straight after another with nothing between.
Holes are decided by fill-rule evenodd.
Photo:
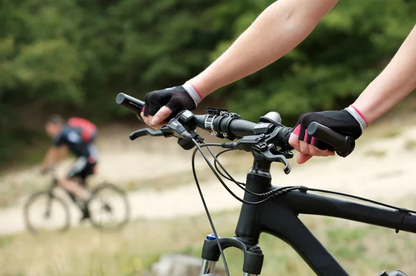
<instances>
[{"instance_id":1,"label":"blurred distant bicycle ridden by the cyclist with red backpack","mask_svg":"<svg viewBox=\"0 0 416 276\"><path fill-rule=\"evenodd\" d=\"M28 230L37 234L40 230L58 230L64 232L71 225L71 203L82 212L83 202L67 190L58 187L58 178L53 172L51 185L44 191L32 194L24 205L24 221ZM85 183L84 183L85 185ZM61 196L58 190L69 195ZM128 222L130 205L125 192L116 185L103 183L91 191L92 199L88 203L89 221L101 230L119 230Z\"/></svg>"}]
</instances>

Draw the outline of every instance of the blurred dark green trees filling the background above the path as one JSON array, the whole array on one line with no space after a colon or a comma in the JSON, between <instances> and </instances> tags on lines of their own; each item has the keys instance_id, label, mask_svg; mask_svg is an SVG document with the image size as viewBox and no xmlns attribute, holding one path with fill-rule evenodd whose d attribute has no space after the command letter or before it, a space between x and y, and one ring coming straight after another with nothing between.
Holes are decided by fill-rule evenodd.
<instances>
[{"instance_id":1,"label":"blurred dark green trees filling the background above the path","mask_svg":"<svg viewBox=\"0 0 416 276\"><path fill-rule=\"evenodd\" d=\"M272 2L1 1L0 163L42 137L49 113L105 124L127 114L117 93L143 98L182 84ZM340 1L279 62L211 97L251 120L345 107L388 63L415 15L410 0Z\"/></svg>"}]
</instances>

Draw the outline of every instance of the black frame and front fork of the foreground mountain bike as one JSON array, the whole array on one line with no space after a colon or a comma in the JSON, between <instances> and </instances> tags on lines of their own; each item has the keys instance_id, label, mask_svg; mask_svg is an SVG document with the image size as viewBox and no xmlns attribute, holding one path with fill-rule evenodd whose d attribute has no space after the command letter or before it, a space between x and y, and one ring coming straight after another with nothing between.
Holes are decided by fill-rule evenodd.
<instances>
[{"instance_id":1,"label":"black frame and front fork of the foreground mountain bike","mask_svg":"<svg viewBox=\"0 0 416 276\"><path fill-rule=\"evenodd\" d=\"M247 175L246 189L257 194L269 192L270 161L254 154L254 165ZM245 201L259 201L259 196L245 192ZM319 276L349 275L338 261L306 228L299 214L316 214L416 233L416 216L406 210L392 210L365 205L355 201L336 199L308 192L288 192L260 205L243 204L234 238L220 238L223 249L236 247L244 252L244 275L259 275L263 254L258 246L262 232L285 241ZM212 273L220 257L217 241L205 239L202 249L201 274Z\"/></svg>"}]
</instances>

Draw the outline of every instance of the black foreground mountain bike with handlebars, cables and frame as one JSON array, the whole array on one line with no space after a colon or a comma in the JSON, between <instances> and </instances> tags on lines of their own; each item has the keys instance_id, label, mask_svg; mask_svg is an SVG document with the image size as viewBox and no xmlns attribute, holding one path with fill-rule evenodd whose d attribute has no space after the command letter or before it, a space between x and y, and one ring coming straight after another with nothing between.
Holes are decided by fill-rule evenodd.
<instances>
[{"instance_id":1,"label":"black foreground mountain bike with handlebars, cables and frame","mask_svg":"<svg viewBox=\"0 0 416 276\"><path fill-rule=\"evenodd\" d=\"M144 106L144 102L119 93L116 98L118 104L134 111L137 117ZM306 264L319 276L347 276L347 271L336 261L330 252L309 229L298 218L299 214L315 214L327 217L338 217L350 221L359 221L376 226L416 233L416 212L405 208L397 208L392 205L379 203L358 196L331 192L328 190L313 189L305 186L273 186L271 185L270 165L273 162L284 164L284 172L291 172L288 158L293 157L293 147L288 144L288 138L292 129L281 125L279 113L270 112L262 116L259 122L241 120L235 113L229 113L226 109L206 109L205 115L194 115L191 111L182 111L168 121L158 131L152 129L141 129L130 134L130 140L141 136L164 136L178 138L178 144L184 149L192 149L193 176L200 193L202 203L213 234L209 234L202 248L202 266L200 276L219 276L212 274L216 261L220 257L225 265L225 272L229 276L227 261L223 255L225 248L239 248L243 251L243 275L260 275L263 266L263 252L259 246L260 234L266 232L277 239L281 239L292 246L304 259ZM206 143L196 133L196 128L210 131L219 138L227 138L236 142ZM349 136L342 136L327 127L312 122L308 128L308 134L327 142L333 146L339 156L347 156L353 150L355 141ZM214 158L214 165L209 162L202 151L207 147L209 154ZM235 181L218 161L218 156L225 151L215 155L209 147L223 147L225 151L243 150L248 151L254 157L253 165L247 174L246 183ZM239 221L236 226L234 237L221 238L215 230L209 210L205 203L195 170L195 156L200 151L212 172L225 189L241 201L242 207ZM218 166L220 169L218 169ZM242 190L244 197L240 199L229 190L224 183L223 176L234 182ZM317 194L320 193L320 194ZM335 194L347 196L358 201L348 201L324 196L324 194ZM376 206L378 205L378 206ZM406 276L400 270L388 274L383 271L379 276Z\"/></svg>"}]
</instances>

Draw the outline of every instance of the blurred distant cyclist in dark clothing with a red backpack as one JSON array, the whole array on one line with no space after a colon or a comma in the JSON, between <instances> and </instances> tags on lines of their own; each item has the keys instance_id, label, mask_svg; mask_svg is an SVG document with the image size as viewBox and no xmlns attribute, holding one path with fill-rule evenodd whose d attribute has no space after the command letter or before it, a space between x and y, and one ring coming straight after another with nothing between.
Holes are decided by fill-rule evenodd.
<instances>
[{"instance_id":1,"label":"blurred distant cyclist in dark clothing with a red backpack","mask_svg":"<svg viewBox=\"0 0 416 276\"><path fill-rule=\"evenodd\" d=\"M61 116L52 115L45 123L46 134L53 139L53 145L46 153L42 172L47 172L58 160L67 156L71 151L76 156L67 176L60 178L59 184L71 196L77 196L84 201L83 219L89 218L88 201L91 193L85 189L87 176L94 174L98 160L98 151L94 145L97 128L83 118L70 118L64 122Z\"/></svg>"}]
</instances>

